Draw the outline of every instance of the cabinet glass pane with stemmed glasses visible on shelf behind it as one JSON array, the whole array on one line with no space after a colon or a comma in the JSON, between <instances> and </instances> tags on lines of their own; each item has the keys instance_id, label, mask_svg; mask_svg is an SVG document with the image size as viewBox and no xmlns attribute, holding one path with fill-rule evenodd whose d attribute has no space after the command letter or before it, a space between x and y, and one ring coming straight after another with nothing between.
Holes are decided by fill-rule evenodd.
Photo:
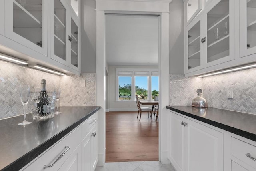
<instances>
[{"instance_id":1,"label":"cabinet glass pane with stemmed glasses visible on shelf behind it","mask_svg":"<svg viewBox=\"0 0 256 171\"><path fill-rule=\"evenodd\" d=\"M229 0L207 13L207 62L229 55Z\"/></svg>"}]
</instances>

